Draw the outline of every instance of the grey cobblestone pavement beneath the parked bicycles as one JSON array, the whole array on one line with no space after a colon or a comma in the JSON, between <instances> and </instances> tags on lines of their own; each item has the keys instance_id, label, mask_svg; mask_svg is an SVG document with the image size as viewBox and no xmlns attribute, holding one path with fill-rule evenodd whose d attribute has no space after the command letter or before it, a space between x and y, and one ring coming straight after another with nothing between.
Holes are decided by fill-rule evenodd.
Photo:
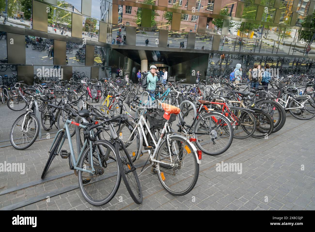
<instances>
[{"instance_id":1,"label":"grey cobblestone pavement beneath the parked bicycles","mask_svg":"<svg viewBox=\"0 0 315 232\"><path fill-rule=\"evenodd\" d=\"M8 139L12 122L20 114L0 106L2 140ZM140 176L141 205L133 202L123 181L108 204L89 205L80 193L77 176L69 170L68 161L59 156L49 168L48 181L40 182L52 139L36 141L23 151L3 147L0 163L25 163L26 171L24 175L0 173L0 209L315 210L314 126L314 120L298 120L287 114L284 127L268 139L234 139L221 155L203 154L197 184L185 196L167 193L149 168ZM147 153L135 164L144 163L146 158ZM217 172L216 164L222 161L242 164L242 174ZM140 172L140 168L137 170Z\"/></svg>"}]
</instances>

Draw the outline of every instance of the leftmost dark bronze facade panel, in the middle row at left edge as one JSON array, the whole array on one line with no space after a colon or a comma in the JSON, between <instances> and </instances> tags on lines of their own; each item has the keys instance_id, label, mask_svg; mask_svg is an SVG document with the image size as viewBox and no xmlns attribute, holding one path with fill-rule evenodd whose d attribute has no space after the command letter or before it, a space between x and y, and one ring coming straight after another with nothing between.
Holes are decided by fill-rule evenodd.
<instances>
[{"instance_id":1,"label":"leftmost dark bronze facade panel, in the middle row at left edge","mask_svg":"<svg viewBox=\"0 0 315 232\"><path fill-rule=\"evenodd\" d=\"M25 36L7 33L8 63L25 64Z\"/></svg>"}]
</instances>

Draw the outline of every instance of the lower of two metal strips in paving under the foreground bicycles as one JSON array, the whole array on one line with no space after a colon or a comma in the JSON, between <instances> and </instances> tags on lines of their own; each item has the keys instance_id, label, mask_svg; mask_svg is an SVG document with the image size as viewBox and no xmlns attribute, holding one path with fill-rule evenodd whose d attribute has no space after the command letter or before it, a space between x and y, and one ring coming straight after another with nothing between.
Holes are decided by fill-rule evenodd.
<instances>
[{"instance_id":1,"label":"lower of two metal strips in paving under the foreground bicycles","mask_svg":"<svg viewBox=\"0 0 315 232\"><path fill-rule=\"evenodd\" d=\"M135 167L136 168L142 167L145 163L146 162L142 162L140 164L135 165ZM71 171L71 172L73 173L73 171ZM108 176L102 178L102 180L104 180L106 178L109 178L109 177L112 177L112 176L114 176L114 175L113 174L112 175L108 175ZM46 181L44 181L44 182L46 182ZM24 201L17 202L15 204L5 206L5 207L1 208L0 210L15 210L15 209L24 207L26 205L30 205L30 204L33 204L35 202L41 201L43 199L46 199L47 196L53 197L53 196L56 196L56 195L59 195L59 194L66 193L66 192L69 192L71 190L77 189L78 187L79 187L79 184L73 184L73 185L70 185L70 186L67 186L67 187L64 187L64 188L61 188L61 189L57 189L57 190L52 191L50 193L43 193L43 194L41 194L41 195L39 195L37 197L32 197L30 199L26 199Z\"/></svg>"}]
</instances>

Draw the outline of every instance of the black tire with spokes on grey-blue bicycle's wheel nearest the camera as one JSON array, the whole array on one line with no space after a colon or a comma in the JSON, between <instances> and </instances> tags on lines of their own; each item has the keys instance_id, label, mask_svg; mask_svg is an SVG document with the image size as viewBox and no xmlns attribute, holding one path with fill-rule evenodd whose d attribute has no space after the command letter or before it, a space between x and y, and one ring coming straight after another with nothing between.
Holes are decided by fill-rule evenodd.
<instances>
[{"instance_id":1,"label":"black tire with spokes on grey-blue bicycle's wheel nearest the camera","mask_svg":"<svg viewBox=\"0 0 315 232\"><path fill-rule=\"evenodd\" d=\"M92 174L91 173L89 173L89 172L85 172L85 173L87 173L87 177L83 177L83 171L82 170L78 170L77 171L77 174L78 174L78 183L79 183L79 188L80 188L80 191L81 191L81 193L82 193L82 195L83 195L83 197L84 197L84 199L87 201L87 202L89 202L91 205L96 205L96 206L100 206L100 205L105 205L105 204L107 204L108 202L110 202L112 199L113 199L113 197L116 195L116 193L117 193L117 191L118 191L118 188L119 188L119 186L120 186L120 182L121 182L121 174L120 174L120 170L119 170L119 165L117 164L118 162L117 162L117 154L115 153L115 148L112 146L112 144L110 143L110 142L108 142L108 141L106 141L106 140L97 140L97 141L95 141L95 142L93 142L93 148L92 148L92 150L94 150L94 151L97 151L97 150L99 150L100 149L100 146L106 146L106 147L108 147L108 150L107 150L107 152L112 152L113 153L113 156L115 156L115 157L113 157L113 156L110 156L111 158L109 158L109 159L111 159L111 160L113 160L114 162L106 162L106 160L102 160L102 163L103 162L105 162L105 164L107 164L106 165L106 167L104 168L104 167L96 167L95 166L95 162L96 161L94 161L93 160L93 166L95 166L95 168L97 169L97 170L102 170L102 174L101 175L107 175L106 177L105 177L105 179L102 179L102 180L99 180L99 181L97 181L98 182L98 186L97 187L101 187L101 185L102 184L100 184L100 181L106 181L108 178L111 178L111 177L113 177L112 179L116 179L116 180L114 180L115 181L115 183L114 183L114 185L113 185L113 188L111 188L111 190L110 191L107 191L108 189L109 189L109 184L110 183L112 183L113 181L110 181L110 183L105 183L106 184L106 186L105 187L101 187L101 189L103 190L103 191L106 191L106 192L110 192L109 194L107 194L106 193L106 196L105 196L105 198L104 199L100 199L100 200L98 200L98 199L94 199L94 198L92 198L92 196L91 196L91 194L89 194L88 192L87 192L87 190L84 188L84 187L86 187L86 186L88 186L88 188L87 189L89 189L89 187L91 187L91 184L93 184L93 182L94 181L91 181L91 178L92 178ZM98 149L97 149L98 148ZM79 161L79 168L82 168L82 169L84 169L84 167L86 167L85 165L86 164L84 164L84 162L87 162L88 161L88 159L90 158L90 148L89 147L87 147L86 149L85 149L85 151L83 152L83 155L81 156L81 159L80 159L80 161ZM108 160L109 160L108 159ZM107 160L107 161L108 161ZM95 163L95 164L94 164ZM111 167L108 167L108 165L109 164L113 164L112 166L112 168ZM96 164L97 165L97 164ZM117 171L116 171L116 168L115 168L115 166L117 167ZM113 170L112 169L115 169L114 170L114 174L113 174ZM109 175L109 174L105 174L105 172L104 172L104 170L110 170L111 171L111 174ZM117 172L117 175L115 175L116 174L116 172ZM96 175L96 178L98 177L98 176L100 176L100 175ZM83 178L84 178L84 180L83 180ZM87 181L87 180L89 180L89 182L88 183L83 183L83 181ZM105 182L104 181L104 182ZM95 191L93 192L92 191L92 194L94 193L94 195L97 195L97 194L95 194ZM103 193L103 192L102 192ZM105 194L102 194L102 196L104 196Z\"/></svg>"}]
</instances>

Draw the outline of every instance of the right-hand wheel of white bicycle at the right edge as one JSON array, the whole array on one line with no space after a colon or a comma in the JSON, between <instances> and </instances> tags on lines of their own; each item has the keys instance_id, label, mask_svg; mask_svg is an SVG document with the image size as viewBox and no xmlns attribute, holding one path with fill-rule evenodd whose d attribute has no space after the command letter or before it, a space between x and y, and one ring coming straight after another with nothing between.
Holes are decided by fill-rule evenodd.
<instances>
[{"instance_id":1,"label":"right-hand wheel of white bicycle at the right edge","mask_svg":"<svg viewBox=\"0 0 315 232\"><path fill-rule=\"evenodd\" d=\"M300 120L312 119L315 116L315 103L310 99L294 98L290 101L288 108L301 107L303 103L303 108L289 109L290 114Z\"/></svg>"}]
</instances>

